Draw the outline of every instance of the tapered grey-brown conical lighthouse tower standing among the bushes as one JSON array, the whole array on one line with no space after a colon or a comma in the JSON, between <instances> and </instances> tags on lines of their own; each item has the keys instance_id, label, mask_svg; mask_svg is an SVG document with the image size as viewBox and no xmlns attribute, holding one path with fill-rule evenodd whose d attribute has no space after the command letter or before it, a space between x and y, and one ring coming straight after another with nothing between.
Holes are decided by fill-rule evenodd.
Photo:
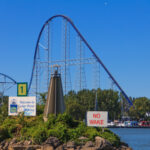
<instances>
[{"instance_id":1,"label":"tapered grey-brown conical lighthouse tower standing among the bushes","mask_svg":"<svg viewBox=\"0 0 150 150\"><path fill-rule=\"evenodd\" d=\"M61 76L58 74L58 68L55 70L55 73L52 74L47 101L44 108L44 120L47 120L49 114L59 114L65 111L64 97Z\"/></svg>"}]
</instances>

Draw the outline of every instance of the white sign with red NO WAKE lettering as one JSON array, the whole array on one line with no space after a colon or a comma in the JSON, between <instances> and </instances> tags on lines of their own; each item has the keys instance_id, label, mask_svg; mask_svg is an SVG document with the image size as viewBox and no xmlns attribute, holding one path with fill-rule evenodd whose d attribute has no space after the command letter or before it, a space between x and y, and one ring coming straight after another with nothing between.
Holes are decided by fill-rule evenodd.
<instances>
[{"instance_id":1,"label":"white sign with red NO WAKE lettering","mask_svg":"<svg viewBox=\"0 0 150 150\"><path fill-rule=\"evenodd\" d=\"M108 112L107 111L88 111L87 126L107 127Z\"/></svg>"}]
</instances>

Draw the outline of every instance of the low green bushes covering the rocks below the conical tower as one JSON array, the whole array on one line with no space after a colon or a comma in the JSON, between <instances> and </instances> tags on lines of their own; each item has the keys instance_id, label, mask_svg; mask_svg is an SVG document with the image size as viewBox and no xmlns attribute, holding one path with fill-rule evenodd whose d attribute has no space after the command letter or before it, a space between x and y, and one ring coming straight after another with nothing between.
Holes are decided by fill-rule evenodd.
<instances>
[{"instance_id":1,"label":"low green bushes covering the rocks below the conical tower","mask_svg":"<svg viewBox=\"0 0 150 150\"><path fill-rule=\"evenodd\" d=\"M25 117L20 114L16 117L7 117L0 126L0 141L10 138L31 140L33 144L41 144L48 137L55 136L62 143L68 141L81 142L81 136L94 141L96 136L107 139L112 145L119 145L120 139L108 129L87 127L81 121L75 121L66 113L58 116L50 115L48 121L44 122L42 116Z\"/></svg>"}]
</instances>

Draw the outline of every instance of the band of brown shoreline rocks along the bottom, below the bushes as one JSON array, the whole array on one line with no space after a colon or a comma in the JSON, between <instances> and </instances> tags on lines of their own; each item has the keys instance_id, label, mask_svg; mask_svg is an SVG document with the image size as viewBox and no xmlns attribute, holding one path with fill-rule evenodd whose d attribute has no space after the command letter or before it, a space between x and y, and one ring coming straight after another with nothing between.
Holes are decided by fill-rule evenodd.
<instances>
[{"instance_id":1,"label":"band of brown shoreline rocks along the bottom, below the bushes","mask_svg":"<svg viewBox=\"0 0 150 150\"><path fill-rule=\"evenodd\" d=\"M61 143L56 137L49 137L41 145L33 145L32 141L17 141L13 138L10 141L2 141L0 150L132 150L125 143L114 147L109 141L99 136L95 137L95 141L86 141L86 137L80 137L79 140L80 144L74 141Z\"/></svg>"}]
</instances>

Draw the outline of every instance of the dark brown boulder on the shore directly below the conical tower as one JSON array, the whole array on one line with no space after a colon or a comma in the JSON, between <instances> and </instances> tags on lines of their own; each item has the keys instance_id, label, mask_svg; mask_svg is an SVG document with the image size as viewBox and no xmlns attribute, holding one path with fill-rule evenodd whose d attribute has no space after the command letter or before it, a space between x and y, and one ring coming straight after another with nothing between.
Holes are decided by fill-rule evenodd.
<instances>
[{"instance_id":1,"label":"dark brown boulder on the shore directly below the conical tower","mask_svg":"<svg viewBox=\"0 0 150 150\"><path fill-rule=\"evenodd\" d=\"M53 146L54 148L58 147L59 145L61 145L61 142L56 138L56 137L49 137L44 144L49 144L51 146Z\"/></svg>"}]
</instances>

